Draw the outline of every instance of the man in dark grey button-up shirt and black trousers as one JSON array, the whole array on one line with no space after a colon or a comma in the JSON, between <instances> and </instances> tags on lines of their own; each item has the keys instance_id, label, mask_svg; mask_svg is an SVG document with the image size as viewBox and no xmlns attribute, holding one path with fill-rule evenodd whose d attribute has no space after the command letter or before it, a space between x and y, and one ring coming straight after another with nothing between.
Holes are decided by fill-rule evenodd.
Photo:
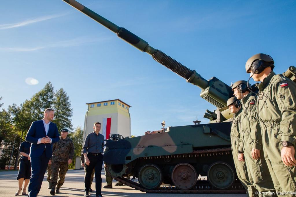
<instances>
[{"instance_id":1,"label":"man in dark grey button-up shirt and black trousers","mask_svg":"<svg viewBox=\"0 0 296 197\"><path fill-rule=\"evenodd\" d=\"M100 134L101 123L94 123L94 132L89 133L83 144L83 155L86 164L86 175L84 179L85 194L84 196L89 197L89 188L91 180L91 172L94 170L96 177L96 196L102 197L102 178L101 171L103 165L103 149L104 149L104 135Z\"/></svg>"}]
</instances>

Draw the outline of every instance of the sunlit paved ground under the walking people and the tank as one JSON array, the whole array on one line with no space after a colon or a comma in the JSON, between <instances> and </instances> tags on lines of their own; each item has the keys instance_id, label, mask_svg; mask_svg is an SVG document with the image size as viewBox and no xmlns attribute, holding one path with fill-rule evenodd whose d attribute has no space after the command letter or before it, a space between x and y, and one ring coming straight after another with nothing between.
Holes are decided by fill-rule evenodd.
<instances>
[{"instance_id":1,"label":"sunlit paved ground under the walking people and the tank","mask_svg":"<svg viewBox=\"0 0 296 197\"><path fill-rule=\"evenodd\" d=\"M0 196L15 196L15 192L17 192L17 171L3 171L0 172ZM94 180L95 181L95 180ZM188 197L191 196L199 196L199 197L210 197L210 196L235 196L235 197L245 197L245 194L146 194L141 191L135 190L128 186L114 186L116 181L113 180L113 189L104 189L102 188L102 196L104 197L181 197L186 195ZM104 170L102 170L102 186L106 185ZM44 176L44 180L42 183L41 190L38 196L51 196L49 194L48 182L46 181L46 176ZM91 187L95 188L95 183ZM28 193L28 192L27 192ZM54 196L83 196L84 195L84 170L69 170L67 172L65 183L60 188L60 193ZM19 195L22 196L22 195ZM28 194L26 195L28 196ZM96 196L95 192L91 192L90 196Z\"/></svg>"}]
</instances>

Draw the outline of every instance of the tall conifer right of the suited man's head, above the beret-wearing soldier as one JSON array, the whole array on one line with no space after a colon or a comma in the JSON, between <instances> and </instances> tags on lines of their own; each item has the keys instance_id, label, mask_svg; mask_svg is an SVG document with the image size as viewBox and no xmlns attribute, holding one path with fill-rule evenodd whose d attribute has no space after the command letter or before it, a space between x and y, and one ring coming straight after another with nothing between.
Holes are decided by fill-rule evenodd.
<instances>
[{"instance_id":1,"label":"tall conifer right of the suited man's head, above the beret-wearing soldier","mask_svg":"<svg viewBox=\"0 0 296 197\"><path fill-rule=\"evenodd\" d=\"M69 96L63 88L57 90L54 94L54 123L57 124L57 128L73 130L71 117L73 116L73 109L71 108L71 102Z\"/></svg>"}]
</instances>

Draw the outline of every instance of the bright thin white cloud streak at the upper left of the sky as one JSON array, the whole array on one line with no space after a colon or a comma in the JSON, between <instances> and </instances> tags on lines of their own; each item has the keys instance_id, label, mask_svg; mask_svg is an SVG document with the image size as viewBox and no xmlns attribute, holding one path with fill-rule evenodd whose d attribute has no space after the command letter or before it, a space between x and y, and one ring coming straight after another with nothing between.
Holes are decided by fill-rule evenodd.
<instances>
[{"instance_id":1,"label":"bright thin white cloud streak at the upper left of the sky","mask_svg":"<svg viewBox=\"0 0 296 197\"><path fill-rule=\"evenodd\" d=\"M10 29L10 28L17 28L17 27L22 27L22 26L26 26L26 25L30 25L36 22L41 22L41 21L45 21L45 20L49 20L49 19L53 19L53 18L58 18L61 16L65 16L68 13L63 13L63 14L53 14L53 15L48 15L48 16L44 16L44 17L38 17L35 19L31 19L31 20L25 20L25 21L21 21L21 22L17 22L17 23L10 23L10 24L3 24L0 25L0 30L1 29Z\"/></svg>"}]
</instances>

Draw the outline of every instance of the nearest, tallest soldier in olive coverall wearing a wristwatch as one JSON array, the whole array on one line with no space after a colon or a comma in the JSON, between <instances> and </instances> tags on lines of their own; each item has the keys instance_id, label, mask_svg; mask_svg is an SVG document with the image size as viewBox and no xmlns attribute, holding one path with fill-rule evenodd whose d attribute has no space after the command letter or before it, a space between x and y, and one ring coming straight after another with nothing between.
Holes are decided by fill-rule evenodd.
<instances>
[{"instance_id":1,"label":"nearest, tallest soldier in olive coverall wearing a wristwatch","mask_svg":"<svg viewBox=\"0 0 296 197\"><path fill-rule=\"evenodd\" d=\"M285 195L295 196L296 84L273 69L274 60L266 54L256 54L246 62L250 78L261 82L256 105L274 185Z\"/></svg>"}]
</instances>

